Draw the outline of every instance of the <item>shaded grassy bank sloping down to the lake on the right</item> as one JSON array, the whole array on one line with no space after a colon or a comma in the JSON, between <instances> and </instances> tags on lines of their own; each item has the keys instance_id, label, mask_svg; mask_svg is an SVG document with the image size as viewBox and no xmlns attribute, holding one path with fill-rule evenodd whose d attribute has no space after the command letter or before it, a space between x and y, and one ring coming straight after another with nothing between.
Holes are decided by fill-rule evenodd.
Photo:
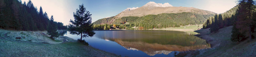
<instances>
[{"instance_id":1,"label":"shaded grassy bank sloping down to the lake on the right","mask_svg":"<svg viewBox=\"0 0 256 57\"><path fill-rule=\"evenodd\" d=\"M197 30L200 34L195 35L202 39L205 39L206 42L211 44L210 49L203 49L203 50L193 50L193 51L186 51L180 52L178 55L175 56L196 56L196 57L253 57L256 56L256 40L244 40L242 42L232 42L230 41L230 35L232 31L232 26L228 26L225 28L220 29L216 33L210 33L209 29L202 29ZM253 33L255 36L256 33Z\"/></svg>"}]
</instances>

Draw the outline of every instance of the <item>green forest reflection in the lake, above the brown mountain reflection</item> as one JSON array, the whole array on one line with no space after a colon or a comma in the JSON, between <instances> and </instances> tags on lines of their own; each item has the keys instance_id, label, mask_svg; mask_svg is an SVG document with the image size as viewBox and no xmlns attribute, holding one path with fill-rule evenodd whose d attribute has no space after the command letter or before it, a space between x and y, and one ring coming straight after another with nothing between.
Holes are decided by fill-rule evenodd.
<instances>
[{"instance_id":1,"label":"green forest reflection in the lake, above the brown mountain reflection","mask_svg":"<svg viewBox=\"0 0 256 57\"><path fill-rule=\"evenodd\" d=\"M123 31L95 31L94 37L114 41L121 39L127 42L157 43L162 45L197 46L207 45L204 39L181 31L150 31L150 30L123 30Z\"/></svg>"}]
</instances>

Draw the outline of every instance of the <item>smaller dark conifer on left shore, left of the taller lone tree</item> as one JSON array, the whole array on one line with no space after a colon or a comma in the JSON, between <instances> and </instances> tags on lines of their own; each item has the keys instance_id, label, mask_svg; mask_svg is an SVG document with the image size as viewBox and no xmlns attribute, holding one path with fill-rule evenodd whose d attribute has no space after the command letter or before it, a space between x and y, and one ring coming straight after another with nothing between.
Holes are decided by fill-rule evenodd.
<instances>
[{"instance_id":1,"label":"smaller dark conifer on left shore, left of the taller lone tree","mask_svg":"<svg viewBox=\"0 0 256 57\"><path fill-rule=\"evenodd\" d=\"M54 24L53 20L54 20L53 16L51 16L51 19L50 19L50 22L48 25L48 29L47 29L47 34L51 35L51 38L60 36L59 32L57 31L57 26L56 26L56 24Z\"/></svg>"}]
</instances>

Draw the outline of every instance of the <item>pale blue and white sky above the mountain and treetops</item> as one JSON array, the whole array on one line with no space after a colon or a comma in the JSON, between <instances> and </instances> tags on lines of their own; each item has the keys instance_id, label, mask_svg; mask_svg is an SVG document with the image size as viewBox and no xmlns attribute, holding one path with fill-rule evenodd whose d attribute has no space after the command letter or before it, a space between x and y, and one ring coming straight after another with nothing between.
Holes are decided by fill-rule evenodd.
<instances>
[{"instance_id":1,"label":"pale blue and white sky above the mountain and treetops","mask_svg":"<svg viewBox=\"0 0 256 57\"><path fill-rule=\"evenodd\" d=\"M21 0L28 2L28 0ZM123 10L132 7L141 7L152 1L155 3L169 3L174 7L194 7L224 13L235 7L237 0L31 0L35 7L43 8L43 11L50 17L53 15L54 21L68 25L69 20L74 20L73 12L78 6L84 4L86 10L92 14L92 22L111 16L116 16Z\"/></svg>"}]
</instances>

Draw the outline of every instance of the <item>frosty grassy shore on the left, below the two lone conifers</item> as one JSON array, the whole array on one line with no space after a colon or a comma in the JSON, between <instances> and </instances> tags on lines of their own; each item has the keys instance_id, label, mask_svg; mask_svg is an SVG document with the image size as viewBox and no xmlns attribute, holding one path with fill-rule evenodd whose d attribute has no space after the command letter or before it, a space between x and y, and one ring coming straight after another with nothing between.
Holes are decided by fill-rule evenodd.
<instances>
[{"instance_id":1,"label":"frosty grassy shore on the left, below the two lone conifers","mask_svg":"<svg viewBox=\"0 0 256 57\"><path fill-rule=\"evenodd\" d=\"M0 57L117 57L69 37L50 39L45 31L0 30ZM21 37L21 39L15 39Z\"/></svg>"}]
</instances>

